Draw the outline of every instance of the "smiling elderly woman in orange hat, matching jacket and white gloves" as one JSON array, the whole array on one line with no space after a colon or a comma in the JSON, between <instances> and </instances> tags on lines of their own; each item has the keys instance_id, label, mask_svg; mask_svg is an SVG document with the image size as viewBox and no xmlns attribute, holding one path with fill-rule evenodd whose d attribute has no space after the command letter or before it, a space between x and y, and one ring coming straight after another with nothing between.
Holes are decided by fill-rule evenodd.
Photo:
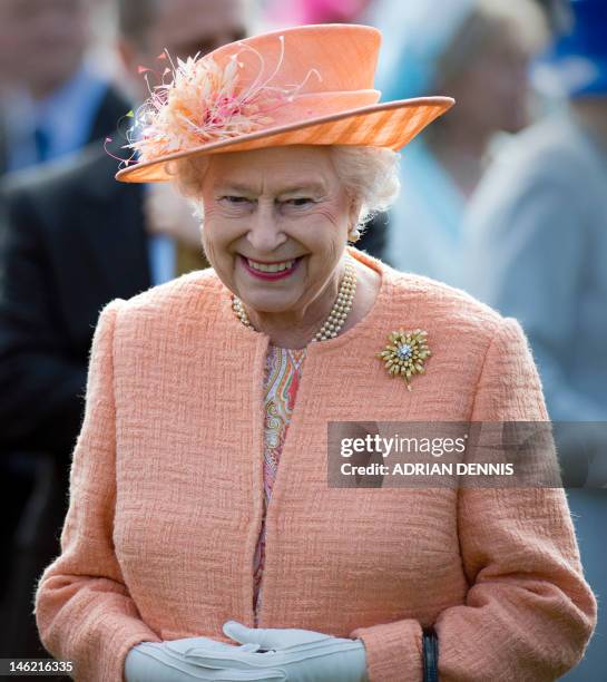
<instances>
[{"instance_id":1,"label":"smiling elderly woman in orange hat, matching jacket and white gloves","mask_svg":"<svg viewBox=\"0 0 607 682\"><path fill-rule=\"evenodd\" d=\"M452 105L378 104L379 42L243 40L172 65L136 114L118 178L193 196L213 267L98 322L36 594L77 679L537 681L584 653L561 488L327 485L332 421L547 419L515 320L347 246Z\"/></svg>"}]
</instances>

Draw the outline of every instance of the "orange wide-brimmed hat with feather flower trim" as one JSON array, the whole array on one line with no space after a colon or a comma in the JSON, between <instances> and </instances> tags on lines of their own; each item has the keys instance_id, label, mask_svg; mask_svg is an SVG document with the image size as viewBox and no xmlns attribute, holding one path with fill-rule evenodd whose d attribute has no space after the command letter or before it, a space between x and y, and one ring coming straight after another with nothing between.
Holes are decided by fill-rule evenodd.
<instances>
[{"instance_id":1,"label":"orange wide-brimmed hat with feather flower trim","mask_svg":"<svg viewBox=\"0 0 607 682\"><path fill-rule=\"evenodd\" d=\"M453 104L451 97L380 103L381 42L368 26L302 26L225 45L175 64L134 114L133 157L116 178L172 179L184 156L285 145L400 149Z\"/></svg>"}]
</instances>

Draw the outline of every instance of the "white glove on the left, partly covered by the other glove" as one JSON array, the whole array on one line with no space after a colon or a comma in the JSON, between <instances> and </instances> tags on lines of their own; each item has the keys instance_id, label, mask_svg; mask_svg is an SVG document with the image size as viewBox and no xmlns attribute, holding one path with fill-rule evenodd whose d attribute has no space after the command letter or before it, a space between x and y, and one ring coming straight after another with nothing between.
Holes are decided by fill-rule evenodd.
<instances>
[{"instance_id":1,"label":"white glove on the left, partly covered by the other glove","mask_svg":"<svg viewBox=\"0 0 607 682\"><path fill-rule=\"evenodd\" d=\"M204 646L209 653L253 652L257 644L234 646L208 637L187 637L170 642L141 642L134 646L125 660L126 682L183 682L184 680L221 682L272 681L285 682L282 671L272 669L232 669L222 661L221 665L205 665L192 660L188 651ZM232 654L234 655L234 654Z\"/></svg>"}]
</instances>

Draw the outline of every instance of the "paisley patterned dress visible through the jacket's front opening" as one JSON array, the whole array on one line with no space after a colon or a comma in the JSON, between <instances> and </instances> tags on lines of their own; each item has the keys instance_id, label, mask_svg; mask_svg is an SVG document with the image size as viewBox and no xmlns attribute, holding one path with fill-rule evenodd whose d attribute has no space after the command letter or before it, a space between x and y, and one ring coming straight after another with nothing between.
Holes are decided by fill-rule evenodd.
<instances>
[{"instance_id":1,"label":"paisley patterned dress visible through the jacket's front opening","mask_svg":"<svg viewBox=\"0 0 607 682\"><path fill-rule=\"evenodd\" d=\"M276 478L278 461L286 437L295 396L302 377L305 348L291 350L270 345L264 377L264 514L253 559L253 612L255 626L262 605L262 575L265 558L265 517Z\"/></svg>"}]
</instances>

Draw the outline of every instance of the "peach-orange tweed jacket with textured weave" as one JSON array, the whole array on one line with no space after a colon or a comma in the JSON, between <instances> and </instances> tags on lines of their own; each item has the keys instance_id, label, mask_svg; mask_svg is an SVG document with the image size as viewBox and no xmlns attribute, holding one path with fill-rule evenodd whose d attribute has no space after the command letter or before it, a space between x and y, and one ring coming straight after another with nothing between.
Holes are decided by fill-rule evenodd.
<instances>
[{"instance_id":1,"label":"peach-orange tweed jacket with textured weave","mask_svg":"<svg viewBox=\"0 0 607 682\"><path fill-rule=\"evenodd\" d=\"M560 488L327 488L326 422L544 420L519 324L461 291L381 273L370 313L309 347L266 520L260 627L361 637L371 682L422 679L434 624L442 682L548 681L596 623ZM413 390L375 353L428 331ZM36 593L48 651L117 682L141 641L253 625L268 338L235 318L213 271L102 311L74 452L61 554Z\"/></svg>"}]
</instances>

